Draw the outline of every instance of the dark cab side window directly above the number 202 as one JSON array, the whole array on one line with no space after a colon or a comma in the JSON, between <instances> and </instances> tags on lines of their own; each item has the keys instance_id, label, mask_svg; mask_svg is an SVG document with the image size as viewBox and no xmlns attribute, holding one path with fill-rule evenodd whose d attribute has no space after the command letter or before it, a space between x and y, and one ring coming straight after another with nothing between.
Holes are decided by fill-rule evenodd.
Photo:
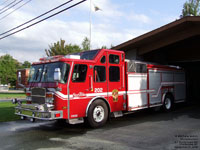
<instances>
[{"instance_id":1,"label":"dark cab side window directly above the number 202","mask_svg":"<svg viewBox=\"0 0 200 150\"><path fill-rule=\"evenodd\" d=\"M106 67L95 66L94 67L94 82L106 81Z\"/></svg>"}]
</instances>

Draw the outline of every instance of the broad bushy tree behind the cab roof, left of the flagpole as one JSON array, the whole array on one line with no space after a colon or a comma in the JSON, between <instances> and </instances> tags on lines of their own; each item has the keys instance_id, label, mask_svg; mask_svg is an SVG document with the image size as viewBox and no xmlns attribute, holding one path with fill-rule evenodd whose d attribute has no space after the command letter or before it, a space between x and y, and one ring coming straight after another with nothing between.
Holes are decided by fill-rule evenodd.
<instances>
[{"instance_id":1,"label":"broad bushy tree behind the cab roof, left of the flagpole","mask_svg":"<svg viewBox=\"0 0 200 150\"><path fill-rule=\"evenodd\" d=\"M70 53L81 52L81 48L78 45L65 44L65 40L60 39L60 41L49 45L49 49L45 49L47 56L55 55L67 55Z\"/></svg>"}]
</instances>

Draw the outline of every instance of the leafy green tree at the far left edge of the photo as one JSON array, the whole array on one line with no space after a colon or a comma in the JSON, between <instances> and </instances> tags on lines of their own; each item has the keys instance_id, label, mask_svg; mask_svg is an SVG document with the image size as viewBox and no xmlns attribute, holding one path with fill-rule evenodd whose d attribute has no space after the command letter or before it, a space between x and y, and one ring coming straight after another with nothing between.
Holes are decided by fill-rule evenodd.
<instances>
[{"instance_id":1,"label":"leafy green tree at the far left edge of the photo","mask_svg":"<svg viewBox=\"0 0 200 150\"><path fill-rule=\"evenodd\" d=\"M17 76L17 68L20 64L17 60L13 59L10 55L4 55L0 57L0 80L1 84L15 85Z\"/></svg>"}]
</instances>

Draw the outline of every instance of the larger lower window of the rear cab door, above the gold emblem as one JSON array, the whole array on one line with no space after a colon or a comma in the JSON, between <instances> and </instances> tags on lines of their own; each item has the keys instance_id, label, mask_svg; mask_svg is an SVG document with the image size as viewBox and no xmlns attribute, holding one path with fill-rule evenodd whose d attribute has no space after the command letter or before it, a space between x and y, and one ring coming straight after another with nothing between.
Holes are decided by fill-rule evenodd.
<instances>
[{"instance_id":1,"label":"larger lower window of the rear cab door, above the gold emblem","mask_svg":"<svg viewBox=\"0 0 200 150\"><path fill-rule=\"evenodd\" d=\"M109 68L109 80L110 82L120 81L120 70L118 66L110 66Z\"/></svg>"}]
</instances>

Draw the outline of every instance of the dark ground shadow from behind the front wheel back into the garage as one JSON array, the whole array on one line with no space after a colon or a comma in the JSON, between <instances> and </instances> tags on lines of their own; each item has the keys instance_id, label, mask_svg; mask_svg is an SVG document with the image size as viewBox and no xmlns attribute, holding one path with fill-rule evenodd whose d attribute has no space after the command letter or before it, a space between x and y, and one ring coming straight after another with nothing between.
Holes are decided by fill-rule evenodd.
<instances>
[{"instance_id":1,"label":"dark ground shadow from behind the front wheel back into the garage","mask_svg":"<svg viewBox=\"0 0 200 150\"><path fill-rule=\"evenodd\" d=\"M175 108L170 112L162 110L154 111L153 109L145 109L125 115L120 118L112 118L109 120L106 129L124 127L129 125L137 125L145 122L160 121L176 121L178 118L187 116L188 118L200 119L200 103L195 104L176 104Z\"/></svg>"}]
</instances>

